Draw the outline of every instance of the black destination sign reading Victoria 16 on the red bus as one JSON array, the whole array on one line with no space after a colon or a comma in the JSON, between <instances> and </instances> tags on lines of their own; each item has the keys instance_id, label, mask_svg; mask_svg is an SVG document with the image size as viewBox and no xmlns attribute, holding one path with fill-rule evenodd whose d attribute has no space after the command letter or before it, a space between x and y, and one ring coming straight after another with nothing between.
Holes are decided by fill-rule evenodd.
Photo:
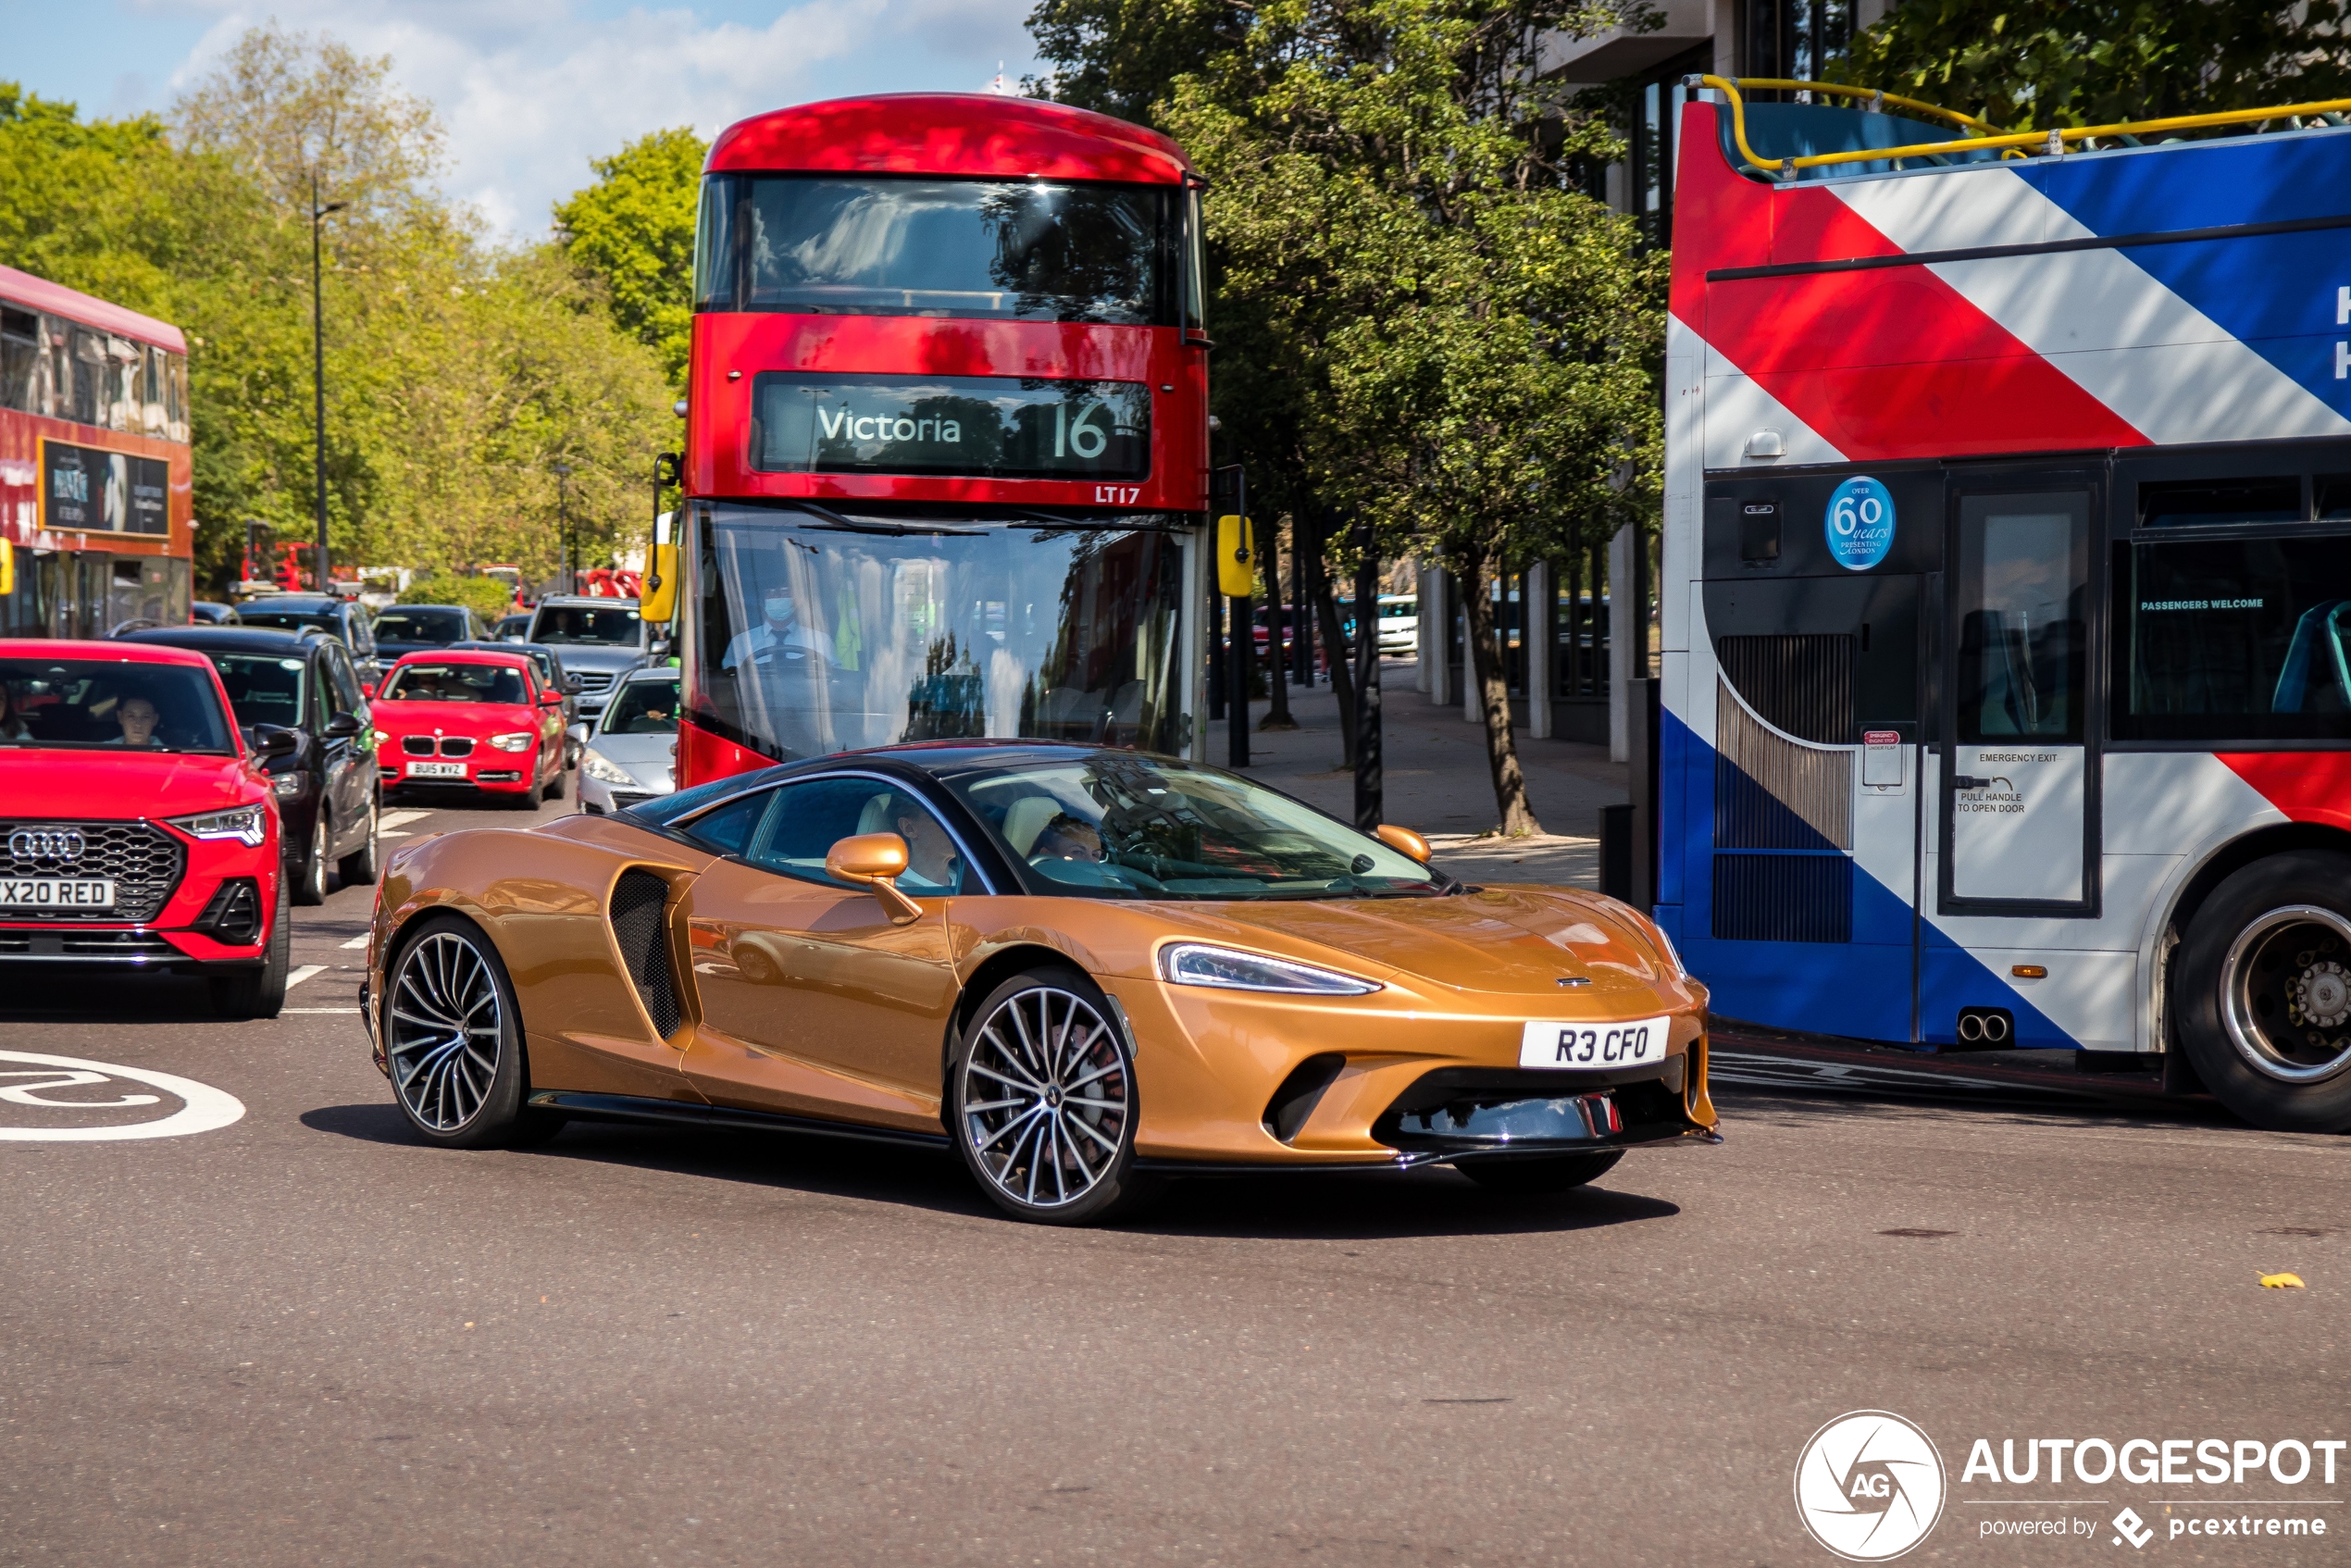
<instances>
[{"instance_id":1,"label":"black destination sign reading Victoria 16 on the red bus","mask_svg":"<svg viewBox=\"0 0 2351 1568\"><path fill-rule=\"evenodd\" d=\"M1152 400L1136 381L766 371L750 451L762 473L1143 480Z\"/></svg>"}]
</instances>

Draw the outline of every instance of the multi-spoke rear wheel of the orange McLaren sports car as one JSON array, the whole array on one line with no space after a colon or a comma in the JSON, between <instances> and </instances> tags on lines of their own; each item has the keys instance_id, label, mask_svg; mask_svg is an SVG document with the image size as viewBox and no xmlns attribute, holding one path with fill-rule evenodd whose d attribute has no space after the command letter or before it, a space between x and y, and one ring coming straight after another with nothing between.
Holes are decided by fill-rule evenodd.
<instances>
[{"instance_id":1,"label":"multi-spoke rear wheel of the orange McLaren sports car","mask_svg":"<svg viewBox=\"0 0 2351 1568\"><path fill-rule=\"evenodd\" d=\"M433 931L400 957L386 990L383 1039L400 1107L426 1131L463 1131L489 1103L505 1051L498 976L473 940Z\"/></svg>"}]
</instances>

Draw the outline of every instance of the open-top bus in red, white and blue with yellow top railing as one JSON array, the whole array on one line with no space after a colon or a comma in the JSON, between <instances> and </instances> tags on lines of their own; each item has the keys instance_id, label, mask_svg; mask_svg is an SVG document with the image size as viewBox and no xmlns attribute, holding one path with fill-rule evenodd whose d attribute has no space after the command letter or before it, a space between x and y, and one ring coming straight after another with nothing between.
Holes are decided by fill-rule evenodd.
<instances>
[{"instance_id":1,"label":"open-top bus in red, white and blue with yellow top railing","mask_svg":"<svg viewBox=\"0 0 2351 1568\"><path fill-rule=\"evenodd\" d=\"M1716 1011L2351 1126L2346 106L1688 87L1655 898Z\"/></svg>"}]
</instances>

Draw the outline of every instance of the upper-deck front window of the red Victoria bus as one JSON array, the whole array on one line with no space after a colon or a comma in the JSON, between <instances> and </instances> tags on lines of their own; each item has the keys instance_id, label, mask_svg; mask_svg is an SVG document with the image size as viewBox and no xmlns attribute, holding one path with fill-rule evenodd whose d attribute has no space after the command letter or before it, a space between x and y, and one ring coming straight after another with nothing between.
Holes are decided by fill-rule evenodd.
<instances>
[{"instance_id":1,"label":"upper-deck front window of the red Victoria bus","mask_svg":"<svg viewBox=\"0 0 2351 1568\"><path fill-rule=\"evenodd\" d=\"M1176 324L1159 186L712 174L696 310Z\"/></svg>"}]
</instances>

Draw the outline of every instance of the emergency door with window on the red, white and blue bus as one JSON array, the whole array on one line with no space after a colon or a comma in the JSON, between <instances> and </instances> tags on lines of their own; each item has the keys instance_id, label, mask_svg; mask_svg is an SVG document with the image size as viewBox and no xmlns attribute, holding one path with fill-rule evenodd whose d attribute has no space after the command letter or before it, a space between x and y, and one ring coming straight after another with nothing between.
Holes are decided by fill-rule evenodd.
<instances>
[{"instance_id":1,"label":"emergency door with window on the red, white and blue bus","mask_svg":"<svg viewBox=\"0 0 2351 1568\"><path fill-rule=\"evenodd\" d=\"M1956 496L1944 682L1951 766L1942 785L1947 912L2095 910L2095 491L2088 475L2074 480L1994 480Z\"/></svg>"}]
</instances>

